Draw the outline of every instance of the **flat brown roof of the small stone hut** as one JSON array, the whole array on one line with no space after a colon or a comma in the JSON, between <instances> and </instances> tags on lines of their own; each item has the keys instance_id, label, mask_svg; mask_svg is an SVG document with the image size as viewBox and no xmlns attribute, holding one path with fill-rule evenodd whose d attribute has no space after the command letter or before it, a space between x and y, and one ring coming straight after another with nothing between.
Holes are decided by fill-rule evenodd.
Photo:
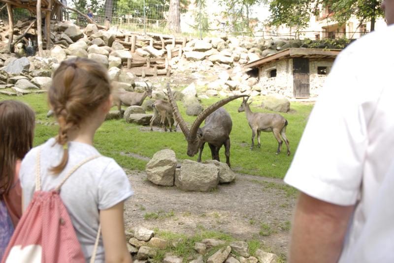
<instances>
[{"instance_id":1,"label":"flat brown roof of the small stone hut","mask_svg":"<svg viewBox=\"0 0 394 263\"><path fill-rule=\"evenodd\" d=\"M286 58L335 59L341 51L340 49L288 48L281 52L244 64L243 67L259 67Z\"/></svg>"}]
</instances>

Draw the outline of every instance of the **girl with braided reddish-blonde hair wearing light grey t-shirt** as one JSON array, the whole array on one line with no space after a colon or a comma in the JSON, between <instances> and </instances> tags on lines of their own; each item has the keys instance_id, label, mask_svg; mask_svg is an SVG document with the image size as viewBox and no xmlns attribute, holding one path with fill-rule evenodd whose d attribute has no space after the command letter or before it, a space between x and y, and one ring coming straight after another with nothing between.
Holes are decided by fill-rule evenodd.
<instances>
[{"instance_id":1,"label":"girl with braided reddish-blonde hair wearing light grey t-shirt","mask_svg":"<svg viewBox=\"0 0 394 263\"><path fill-rule=\"evenodd\" d=\"M87 58L64 60L53 76L48 102L59 123L55 138L33 148L23 159L20 178L23 207L33 198L37 152L41 190L54 189L81 160L98 155L96 130L111 108L107 70ZM100 156L79 167L62 185L60 197L70 215L82 251L90 261L101 224L97 262L131 263L123 222L124 202L133 194L123 169Z\"/></svg>"}]
</instances>

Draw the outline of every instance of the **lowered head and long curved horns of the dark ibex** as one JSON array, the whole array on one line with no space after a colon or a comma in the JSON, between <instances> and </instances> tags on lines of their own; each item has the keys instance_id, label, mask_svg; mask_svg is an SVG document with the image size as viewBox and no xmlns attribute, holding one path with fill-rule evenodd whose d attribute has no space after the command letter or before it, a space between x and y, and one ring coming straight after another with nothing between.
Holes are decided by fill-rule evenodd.
<instances>
[{"instance_id":1,"label":"lowered head and long curved horns of the dark ibex","mask_svg":"<svg viewBox=\"0 0 394 263\"><path fill-rule=\"evenodd\" d=\"M201 147L203 144L203 132L201 128L199 128L200 124L204 121L205 118L207 118L210 114L212 114L214 111L219 109L220 107L224 106L225 104L229 103L230 101L240 98L240 97L246 97L247 95L235 95L231 97L224 98L208 108L206 108L202 113L200 113L195 121L192 124L192 127L188 128L186 125L185 120L182 118L181 114L179 113L178 106L175 102L174 96L171 92L171 88L169 87L169 83L167 83L167 91L168 91L168 98L169 102L171 103L172 106L172 111L173 111L173 116L176 118L179 127L181 127L181 130L183 134L186 137L186 141L188 142L188 151L187 154L190 157L193 157L197 152L198 149Z\"/></svg>"}]
</instances>

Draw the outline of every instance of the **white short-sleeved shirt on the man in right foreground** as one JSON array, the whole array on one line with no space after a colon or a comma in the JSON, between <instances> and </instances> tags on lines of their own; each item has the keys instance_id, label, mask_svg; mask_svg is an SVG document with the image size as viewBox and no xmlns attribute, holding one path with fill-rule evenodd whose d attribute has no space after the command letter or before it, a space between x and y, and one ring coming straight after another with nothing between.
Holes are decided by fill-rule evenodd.
<instances>
[{"instance_id":1,"label":"white short-sleeved shirt on the man in right foreground","mask_svg":"<svg viewBox=\"0 0 394 263\"><path fill-rule=\"evenodd\" d=\"M394 262L394 26L336 58L285 182L355 205L340 263Z\"/></svg>"}]
</instances>

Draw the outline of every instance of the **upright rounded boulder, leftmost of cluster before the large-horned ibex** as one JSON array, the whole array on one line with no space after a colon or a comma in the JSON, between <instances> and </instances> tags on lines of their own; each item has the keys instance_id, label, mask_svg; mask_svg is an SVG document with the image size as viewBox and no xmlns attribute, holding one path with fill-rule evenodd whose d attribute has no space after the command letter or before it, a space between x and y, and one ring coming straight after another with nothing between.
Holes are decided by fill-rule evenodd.
<instances>
[{"instance_id":1,"label":"upright rounded boulder, leftmost of cluster before the large-horned ibex","mask_svg":"<svg viewBox=\"0 0 394 263\"><path fill-rule=\"evenodd\" d=\"M146 176L154 184L172 186L174 185L176 165L177 161L173 150L158 151L146 165Z\"/></svg>"}]
</instances>

